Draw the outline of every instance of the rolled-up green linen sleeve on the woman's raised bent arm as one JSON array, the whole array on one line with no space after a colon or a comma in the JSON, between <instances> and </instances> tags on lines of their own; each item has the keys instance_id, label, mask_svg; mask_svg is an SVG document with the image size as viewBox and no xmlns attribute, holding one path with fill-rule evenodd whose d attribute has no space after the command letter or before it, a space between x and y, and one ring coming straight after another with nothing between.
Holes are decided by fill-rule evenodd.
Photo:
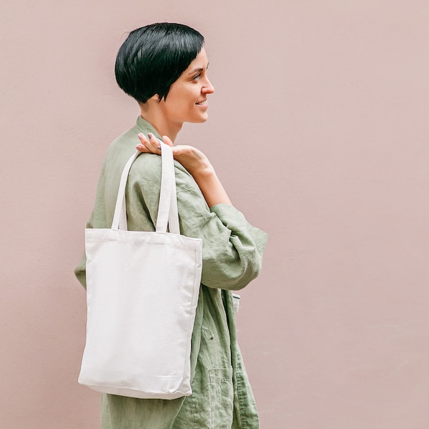
<instances>
[{"instance_id":1,"label":"rolled-up green linen sleeve on the woman's raised bent arm","mask_svg":"<svg viewBox=\"0 0 429 429\"><path fill-rule=\"evenodd\" d=\"M153 155L146 158L144 180L138 173L139 168L134 171L132 168L130 172L129 193L132 199L143 197L140 211L146 212L154 224L158 215L160 158ZM267 234L250 225L243 214L229 204L208 208L197 183L178 162L175 162L175 179L180 232L203 240L201 283L232 291L247 286L260 273Z\"/></svg>"}]
</instances>

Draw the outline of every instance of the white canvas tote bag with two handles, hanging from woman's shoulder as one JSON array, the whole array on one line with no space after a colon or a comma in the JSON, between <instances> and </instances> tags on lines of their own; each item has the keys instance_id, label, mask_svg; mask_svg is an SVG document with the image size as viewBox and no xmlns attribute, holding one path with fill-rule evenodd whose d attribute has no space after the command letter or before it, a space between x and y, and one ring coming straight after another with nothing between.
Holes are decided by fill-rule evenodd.
<instances>
[{"instance_id":1,"label":"white canvas tote bag with two handles, hanging from woman's shoulder","mask_svg":"<svg viewBox=\"0 0 429 429\"><path fill-rule=\"evenodd\" d=\"M88 319L79 383L104 393L147 399L192 393L202 240L180 235L173 151L161 145L156 231L127 231L125 186L138 152L123 169L112 228L85 230Z\"/></svg>"}]
</instances>

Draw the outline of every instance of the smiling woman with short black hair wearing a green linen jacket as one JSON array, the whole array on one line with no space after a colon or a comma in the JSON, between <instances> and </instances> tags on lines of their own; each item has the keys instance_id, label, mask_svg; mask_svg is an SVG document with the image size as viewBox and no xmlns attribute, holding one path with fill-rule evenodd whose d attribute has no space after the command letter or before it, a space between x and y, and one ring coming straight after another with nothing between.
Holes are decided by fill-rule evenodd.
<instances>
[{"instance_id":1,"label":"smiling woman with short black hair wearing a green linen jacket","mask_svg":"<svg viewBox=\"0 0 429 429\"><path fill-rule=\"evenodd\" d=\"M117 56L119 86L140 116L110 145L88 228L109 228L119 178L135 147L126 189L129 230L154 231L160 193L160 143L173 147L180 230L203 239L203 272L191 352L193 394L177 400L102 395L104 429L256 429L258 413L236 343L232 292L258 275L265 232L250 225L228 198L207 157L173 143L184 122L207 119L204 38L186 25L159 23L134 30ZM162 136L162 137L161 137ZM85 286L85 257L75 273Z\"/></svg>"}]
</instances>

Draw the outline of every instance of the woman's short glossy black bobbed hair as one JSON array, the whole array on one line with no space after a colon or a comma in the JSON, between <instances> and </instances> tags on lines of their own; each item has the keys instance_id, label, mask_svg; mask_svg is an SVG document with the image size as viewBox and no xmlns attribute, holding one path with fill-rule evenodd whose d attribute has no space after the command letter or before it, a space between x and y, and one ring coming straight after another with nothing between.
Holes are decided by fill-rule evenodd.
<instances>
[{"instance_id":1,"label":"woman's short glossy black bobbed hair","mask_svg":"<svg viewBox=\"0 0 429 429\"><path fill-rule=\"evenodd\" d=\"M201 51L204 37L183 24L155 23L134 29L119 48L114 74L119 87L139 103L170 86Z\"/></svg>"}]
</instances>

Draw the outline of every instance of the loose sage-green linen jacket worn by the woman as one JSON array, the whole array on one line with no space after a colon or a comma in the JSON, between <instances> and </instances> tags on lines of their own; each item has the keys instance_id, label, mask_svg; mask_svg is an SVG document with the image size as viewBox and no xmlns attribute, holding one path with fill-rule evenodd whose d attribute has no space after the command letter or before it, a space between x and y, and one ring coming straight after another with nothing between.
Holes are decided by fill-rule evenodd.
<instances>
[{"instance_id":1,"label":"loose sage-green linen jacket worn by the woman","mask_svg":"<svg viewBox=\"0 0 429 429\"><path fill-rule=\"evenodd\" d=\"M110 145L87 228L110 228L125 162L137 134L158 132L142 117ZM154 231L161 158L140 154L126 188L129 230ZM101 395L102 429L257 429L258 412L236 341L232 292L247 286L262 264L267 234L228 204L208 208L191 174L175 161L180 231L203 239L203 270L191 350L193 394L176 400ZM85 255L75 269L83 286Z\"/></svg>"}]
</instances>

